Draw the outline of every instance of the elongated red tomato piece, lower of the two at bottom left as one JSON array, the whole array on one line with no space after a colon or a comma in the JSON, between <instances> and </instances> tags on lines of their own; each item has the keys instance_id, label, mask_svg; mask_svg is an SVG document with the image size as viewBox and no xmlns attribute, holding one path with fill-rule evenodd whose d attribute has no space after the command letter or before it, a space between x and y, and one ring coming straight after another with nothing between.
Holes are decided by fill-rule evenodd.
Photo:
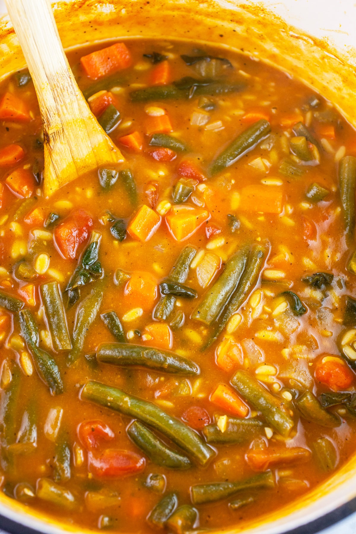
<instances>
[{"instance_id":1,"label":"elongated red tomato piece, lower of the two at bottom left","mask_svg":"<svg viewBox=\"0 0 356 534\"><path fill-rule=\"evenodd\" d=\"M89 471L99 478L133 475L142 471L145 465L145 458L131 451L106 449L98 456L88 453Z\"/></svg>"}]
</instances>

